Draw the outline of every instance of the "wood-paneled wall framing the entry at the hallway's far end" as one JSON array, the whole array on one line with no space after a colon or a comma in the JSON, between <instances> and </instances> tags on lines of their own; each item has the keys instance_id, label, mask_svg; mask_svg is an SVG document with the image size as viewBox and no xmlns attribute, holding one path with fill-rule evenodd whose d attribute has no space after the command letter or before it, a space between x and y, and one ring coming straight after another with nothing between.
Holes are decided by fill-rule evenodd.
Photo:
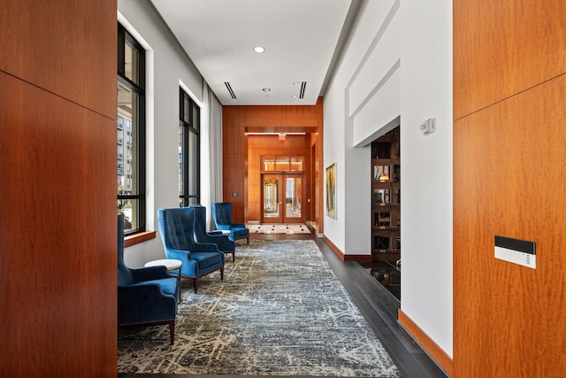
<instances>
[{"instance_id":1,"label":"wood-paneled wall framing the entry at the hallway's far end","mask_svg":"<svg viewBox=\"0 0 566 378\"><path fill-rule=\"evenodd\" d=\"M322 135L324 101L318 98L315 105L281 106L223 106L222 107L222 142L223 142L223 201L233 203L233 221L247 222L250 218L249 201L254 201L255 194L249 198L249 146L246 132L253 133L291 133L304 132L308 135ZM312 138L311 138L312 140ZM279 141L275 141L279 142ZM322 146L322 143L318 143ZM277 146L277 144L276 144ZM312 152L310 152L312 153ZM317 154L322 156L319 147ZM320 158L322 161L322 158ZM311 181L322 180L310 175ZM312 182L310 182L312 184ZM234 194L237 193L237 196ZM322 197L322 196L321 196ZM318 198L317 201L320 199ZM257 199L259 201L259 198ZM251 209L255 212L255 204ZM313 204L312 207L317 206ZM322 209L322 206L320 206ZM310 211L310 217L320 217Z\"/></svg>"}]
</instances>

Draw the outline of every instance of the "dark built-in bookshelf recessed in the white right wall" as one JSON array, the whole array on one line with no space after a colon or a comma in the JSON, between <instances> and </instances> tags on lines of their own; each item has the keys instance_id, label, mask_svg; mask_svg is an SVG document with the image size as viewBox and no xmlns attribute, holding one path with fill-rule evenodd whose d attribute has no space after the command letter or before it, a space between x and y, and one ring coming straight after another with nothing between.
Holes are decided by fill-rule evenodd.
<instances>
[{"instance_id":1,"label":"dark built-in bookshelf recessed in the white right wall","mask_svg":"<svg viewBox=\"0 0 566 378\"><path fill-rule=\"evenodd\" d=\"M371 143L371 256L401 258L401 145L399 127Z\"/></svg>"}]
</instances>

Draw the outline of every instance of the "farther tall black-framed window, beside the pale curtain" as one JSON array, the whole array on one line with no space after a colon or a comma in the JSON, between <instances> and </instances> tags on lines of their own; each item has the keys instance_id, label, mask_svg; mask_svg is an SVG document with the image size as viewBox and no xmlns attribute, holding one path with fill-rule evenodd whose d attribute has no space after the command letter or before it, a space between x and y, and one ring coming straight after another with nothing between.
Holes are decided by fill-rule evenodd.
<instances>
[{"instance_id":1,"label":"farther tall black-framed window, beside the pale curtain","mask_svg":"<svg viewBox=\"0 0 566 378\"><path fill-rule=\"evenodd\" d=\"M201 202L201 109L183 89L179 118L179 205L183 207Z\"/></svg>"}]
</instances>

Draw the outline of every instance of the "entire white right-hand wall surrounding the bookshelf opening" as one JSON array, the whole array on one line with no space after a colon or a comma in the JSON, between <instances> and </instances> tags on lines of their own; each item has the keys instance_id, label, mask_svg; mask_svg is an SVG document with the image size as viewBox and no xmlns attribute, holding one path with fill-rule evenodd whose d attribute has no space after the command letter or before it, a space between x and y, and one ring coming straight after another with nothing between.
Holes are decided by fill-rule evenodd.
<instances>
[{"instance_id":1,"label":"entire white right-hand wall surrounding the bookshelf opening","mask_svg":"<svg viewBox=\"0 0 566 378\"><path fill-rule=\"evenodd\" d=\"M325 94L325 166L338 220L325 236L371 254L368 143L401 116L402 311L452 355L451 2L367 1ZM424 136L420 123L437 121Z\"/></svg>"}]
</instances>

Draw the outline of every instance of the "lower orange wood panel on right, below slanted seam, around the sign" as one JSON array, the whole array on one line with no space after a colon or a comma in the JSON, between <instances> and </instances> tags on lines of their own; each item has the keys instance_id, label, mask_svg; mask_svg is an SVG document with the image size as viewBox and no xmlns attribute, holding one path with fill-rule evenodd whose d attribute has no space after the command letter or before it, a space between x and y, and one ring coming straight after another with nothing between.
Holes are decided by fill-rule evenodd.
<instances>
[{"instance_id":1,"label":"lower orange wood panel on right, below slanted seam, around the sign","mask_svg":"<svg viewBox=\"0 0 566 378\"><path fill-rule=\"evenodd\" d=\"M456 377L566 371L566 75L455 122ZM493 257L534 241L537 268Z\"/></svg>"}]
</instances>

